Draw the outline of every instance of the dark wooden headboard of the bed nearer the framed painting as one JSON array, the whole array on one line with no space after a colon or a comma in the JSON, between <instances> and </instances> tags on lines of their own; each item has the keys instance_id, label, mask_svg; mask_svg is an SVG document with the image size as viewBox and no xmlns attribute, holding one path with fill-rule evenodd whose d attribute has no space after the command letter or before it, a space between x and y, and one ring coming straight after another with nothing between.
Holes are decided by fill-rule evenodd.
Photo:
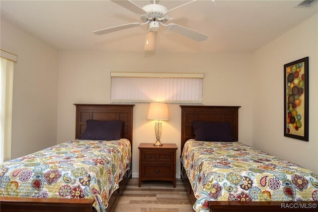
<instances>
[{"instance_id":1,"label":"dark wooden headboard of the bed nearer the framed painting","mask_svg":"<svg viewBox=\"0 0 318 212\"><path fill-rule=\"evenodd\" d=\"M229 122L236 140L239 140L240 106L181 106L181 152L184 143L194 138L192 121Z\"/></svg>"}]
</instances>

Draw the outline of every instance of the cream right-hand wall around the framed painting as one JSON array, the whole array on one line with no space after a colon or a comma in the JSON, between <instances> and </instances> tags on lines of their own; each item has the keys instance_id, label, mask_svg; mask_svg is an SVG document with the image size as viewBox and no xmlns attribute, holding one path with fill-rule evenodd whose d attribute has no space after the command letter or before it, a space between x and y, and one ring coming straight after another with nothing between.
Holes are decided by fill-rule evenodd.
<instances>
[{"instance_id":1,"label":"cream right-hand wall around the framed painting","mask_svg":"<svg viewBox=\"0 0 318 212\"><path fill-rule=\"evenodd\" d=\"M309 142L284 137L284 64L309 56ZM253 146L318 173L318 14L254 53Z\"/></svg>"}]
</instances>

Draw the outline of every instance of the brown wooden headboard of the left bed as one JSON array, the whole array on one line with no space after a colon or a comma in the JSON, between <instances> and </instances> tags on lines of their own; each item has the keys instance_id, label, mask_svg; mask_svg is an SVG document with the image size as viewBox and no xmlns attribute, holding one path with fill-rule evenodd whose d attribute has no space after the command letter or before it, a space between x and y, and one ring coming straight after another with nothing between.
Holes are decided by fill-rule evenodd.
<instances>
[{"instance_id":1,"label":"brown wooden headboard of the left bed","mask_svg":"<svg viewBox=\"0 0 318 212\"><path fill-rule=\"evenodd\" d=\"M133 107L134 105L87 105L76 106L75 138L80 138L86 129L86 120L119 120L124 121L122 137L133 141Z\"/></svg>"}]
</instances>

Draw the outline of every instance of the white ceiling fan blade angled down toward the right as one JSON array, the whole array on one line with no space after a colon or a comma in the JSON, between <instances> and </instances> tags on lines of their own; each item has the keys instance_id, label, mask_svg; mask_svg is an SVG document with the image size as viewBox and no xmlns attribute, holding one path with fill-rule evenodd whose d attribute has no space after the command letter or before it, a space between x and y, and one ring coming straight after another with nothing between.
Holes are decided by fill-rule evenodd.
<instances>
[{"instance_id":1,"label":"white ceiling fan blade angled down toward the right","mask_svg":"<svg viewBox=\"0 0 318 212\"><path fill-rule=\"evenodd\" d=\"M166 25L166 27L170 31L176 32L180 35L183 35L185 37L191 38L192 40L196 40L196 41L204 41L208 39L209 37L208 35L202 34L200 32L194 31L184 26L180 26L175 23L169 23Z\"/></svg>"}]
</instances>

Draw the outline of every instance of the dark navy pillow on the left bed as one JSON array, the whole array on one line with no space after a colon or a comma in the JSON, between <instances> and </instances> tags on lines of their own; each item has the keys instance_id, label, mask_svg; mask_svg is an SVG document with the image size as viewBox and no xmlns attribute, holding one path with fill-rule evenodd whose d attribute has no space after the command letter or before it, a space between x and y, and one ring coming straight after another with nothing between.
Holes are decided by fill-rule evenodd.
<instances>
[{"instance_id":1,"label":"dark navy pillow on the left bed","mask_svg":"<svg viewBox=\"0 0 318 212\"><path fill-rule=\"evenodd\" d=\"M121 139L123 121L86 120L86 129L82 140L119 140Z\"/></svg>"}]
</instances>

